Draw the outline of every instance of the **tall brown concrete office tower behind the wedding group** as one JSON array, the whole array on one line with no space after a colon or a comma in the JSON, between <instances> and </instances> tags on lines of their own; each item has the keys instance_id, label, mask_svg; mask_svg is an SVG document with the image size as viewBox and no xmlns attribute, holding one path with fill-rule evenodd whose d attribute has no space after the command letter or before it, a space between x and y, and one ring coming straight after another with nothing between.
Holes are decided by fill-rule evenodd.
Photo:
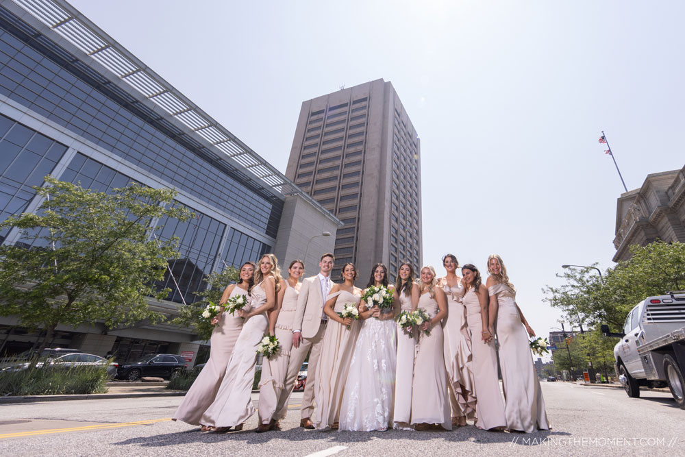
<instances>
[{"instance_id":1,"label":"tall brown concrete office tower behind the wedding group","mask_svg":"<svg viewBox=\"0 0 685 457\"><path fill-rule=\"evenodd\" d=\"M377 79L304 101L286 177L345 224L335 280L345 262L358 267L358 285L376 262L391 280L401 262L421 268L421 143L393 84Z\"/></svg>"}]
</instances>

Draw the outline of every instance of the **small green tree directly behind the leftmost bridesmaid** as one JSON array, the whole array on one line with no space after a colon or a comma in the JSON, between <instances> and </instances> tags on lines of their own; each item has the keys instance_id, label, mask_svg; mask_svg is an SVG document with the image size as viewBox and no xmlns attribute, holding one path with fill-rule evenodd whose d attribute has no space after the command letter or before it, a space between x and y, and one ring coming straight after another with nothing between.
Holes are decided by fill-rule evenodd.
<instances>
[{"instance_id":1,"label":"small green tree directly behind the leftmost bridesmaid","mask_svg":"<svg viewBox=\"0 0 685 457\"><path fill-rule=\"evenodd\" d=\"M192 327L199 340L210 339L214 325L203 319L201 314L210 301L219 303L226 286L238 281L238 273L234 267L226 267L223 271L214 271L214 273L207 275L203 281L207 283L208 288L196 293L201 299L188 305L179 306L179 316L171 322L184 327Z\"/></svg>"}]
</instances>

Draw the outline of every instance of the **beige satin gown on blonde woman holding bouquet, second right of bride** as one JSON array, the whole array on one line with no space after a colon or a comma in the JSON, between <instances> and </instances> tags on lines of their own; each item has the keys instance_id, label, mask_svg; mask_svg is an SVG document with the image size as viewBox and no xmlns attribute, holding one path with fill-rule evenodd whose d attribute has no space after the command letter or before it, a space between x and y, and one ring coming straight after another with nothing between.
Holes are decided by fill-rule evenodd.
<instances>
[{"instance_id":1,"label":"beige satin gown on blonde woman holding bouquet, second right of bride","mask_svg":"<svg viewBox=\"0 0 685 457\"><path fill-rule=\"evenodd\" d=\"M438 302L426 292L419 298L419 308L430 317L438 314ZM447 372L443 359L443 328L433 325L430 334L421 331L418 353L414 360L412 384L412 424L438 423L452 430L447 395Z\"/></svg>"}]
</instances>

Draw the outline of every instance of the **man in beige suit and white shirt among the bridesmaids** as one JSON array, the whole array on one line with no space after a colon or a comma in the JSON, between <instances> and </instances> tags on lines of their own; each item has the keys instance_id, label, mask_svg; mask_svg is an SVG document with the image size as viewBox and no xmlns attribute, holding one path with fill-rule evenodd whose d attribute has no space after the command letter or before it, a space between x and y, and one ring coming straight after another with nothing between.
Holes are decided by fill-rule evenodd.
<instances>
[{"instance_id":1,"label":"man in beige suit and white shirt among the bridesmaids","mask_svg":"<svg viewBox=\"0 0 685 457\"><path fill-rule=\"evenodd\" d=\"M308 277L302 282L299 298L297 299L297 311L295 320L292 322L292 349L290 349L290 361L288 362L288 374L285 385L290 389L288 395L282 398L277 410L288 407L288 397L292 392L297 373L302 366L307 354L309 365L307 368L307 384L305 384L302 397L302 420L300 427L314 428L311 421L314 412L314 388L316 388L316 367L319 366L319 356L323 345L323 334L326 330L328 317L323 314L323 305L326 297L333 286L329 275L333 269L335 257L327 252L321 256L319 262L319 274Z\"/></svg>"}]
</instances>

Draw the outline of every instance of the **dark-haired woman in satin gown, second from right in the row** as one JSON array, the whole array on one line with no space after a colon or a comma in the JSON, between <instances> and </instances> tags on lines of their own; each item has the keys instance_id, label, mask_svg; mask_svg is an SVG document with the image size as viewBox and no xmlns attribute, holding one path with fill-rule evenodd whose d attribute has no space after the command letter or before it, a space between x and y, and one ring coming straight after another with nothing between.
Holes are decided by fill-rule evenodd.
<instances>
[{"instance_id":1,"label":"dark-haired woman in satin gown, second from right in the row","mask_svg":"<svg viewBox=\"0 0 685 457\"><path fill-rule=\"evenodd\" d=\"M488 329L488 289L482 284L480 272L473 264L462 267L464 307L471 334L473 377L477 398L475 426L483 430L506 428L504 402L497 378L495 340Z\"/></svg>"}]
</instances>

